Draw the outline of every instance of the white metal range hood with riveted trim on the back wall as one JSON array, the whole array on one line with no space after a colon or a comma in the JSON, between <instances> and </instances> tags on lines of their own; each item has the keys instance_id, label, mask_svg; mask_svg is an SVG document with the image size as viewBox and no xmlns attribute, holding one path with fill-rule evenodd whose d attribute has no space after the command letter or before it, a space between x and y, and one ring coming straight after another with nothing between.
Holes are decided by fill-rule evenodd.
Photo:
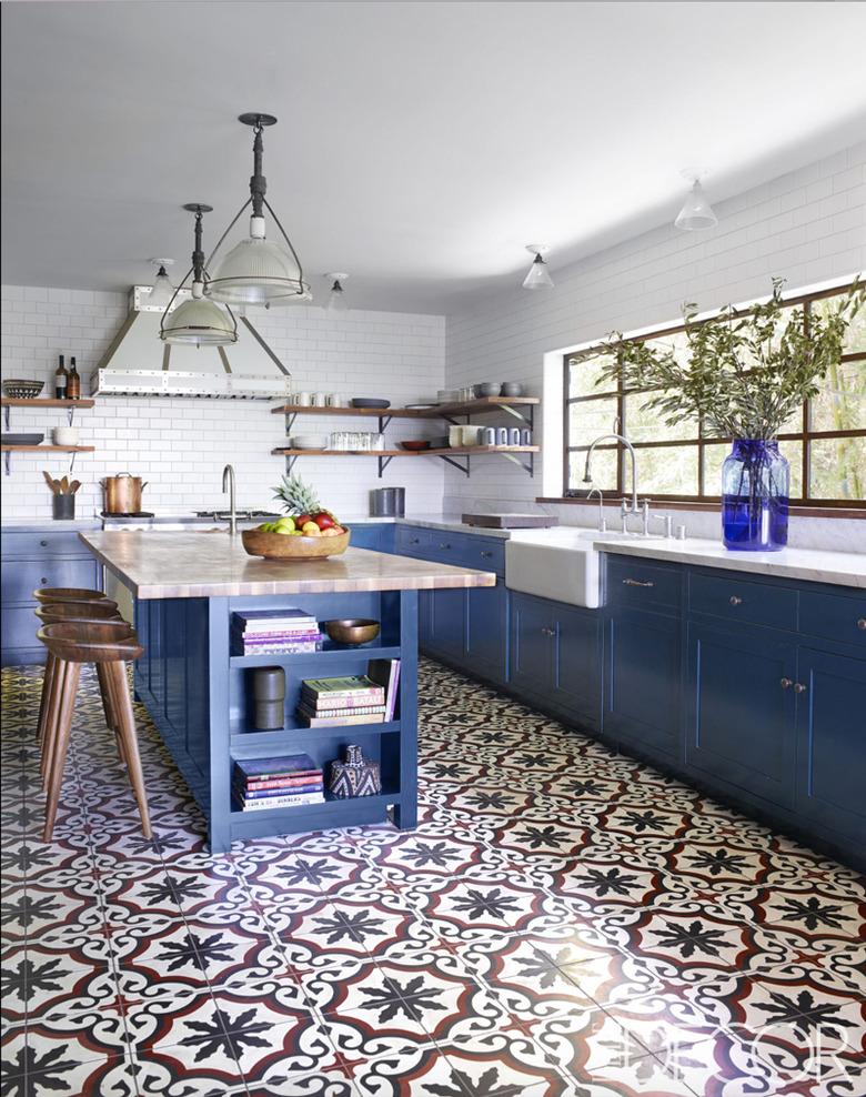
<instances>
[{"instance_id":1,"label":"white metal range hood with riveted trim on the back wall","mask_svg":"<svg viewBox=\"0 0 866 1097\"><path fill-rule=\"evenodd\" d=\"M290 373L246 316L238 316L238 342L190 346L160 339L161 305L149 305L149 285L133 285L129 314L90 375L99 396L199 396L286 400ZM189 298L189 291L177 301Z\"/></svg>"}]
</instances>

